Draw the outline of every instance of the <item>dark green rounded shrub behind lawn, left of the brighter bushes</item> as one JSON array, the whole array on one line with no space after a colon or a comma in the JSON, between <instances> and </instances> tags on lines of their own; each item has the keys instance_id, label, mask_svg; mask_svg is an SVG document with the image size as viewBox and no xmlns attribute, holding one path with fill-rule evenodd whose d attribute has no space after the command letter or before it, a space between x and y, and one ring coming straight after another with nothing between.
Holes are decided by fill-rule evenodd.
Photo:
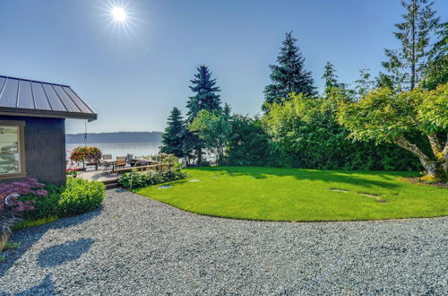
<instances>
[{"instance_id":1,"label":"dark green rounded shrub behind lawn, left of the brighter bushes","mask_svg":"<svg viewBox=\"0 0 448 296\"><path fill-rule=\"evenodd\" d=\"M225 162L228 165L279 165L278 153L264 131L259 118L234 115L230 119L232 133L228 138Z\"/></svg>"}]
</instances>

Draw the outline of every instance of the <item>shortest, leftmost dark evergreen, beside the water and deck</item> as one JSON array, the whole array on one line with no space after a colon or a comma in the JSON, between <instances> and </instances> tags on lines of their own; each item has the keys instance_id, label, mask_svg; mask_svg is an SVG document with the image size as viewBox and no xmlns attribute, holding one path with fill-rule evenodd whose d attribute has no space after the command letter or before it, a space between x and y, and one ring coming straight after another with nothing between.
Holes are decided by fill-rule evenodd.
<instances>
[{"instance_id":1,"label":"shortest, leftmost dark evergreen, beside the water and deck","mask_svg":"<svg viewBox=\"0 0 448 296\"><path fill-rule=\"evenodd\" d=\"M180 110L175 107L168 117L167 127L162 134L160 152L171 153L177 157L184 156L184 135L184 120Z\"/></svg>"}]
</instances>

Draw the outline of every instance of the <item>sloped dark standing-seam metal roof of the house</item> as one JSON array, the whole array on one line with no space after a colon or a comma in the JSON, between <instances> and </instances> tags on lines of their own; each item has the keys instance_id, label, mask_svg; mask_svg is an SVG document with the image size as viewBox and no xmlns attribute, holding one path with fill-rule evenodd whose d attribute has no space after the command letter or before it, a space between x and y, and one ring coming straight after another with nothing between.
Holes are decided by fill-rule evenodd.
<instances>
[{"instance_id":1,"label":"sloped dark standing-seam metal roof of the house","mask_svg":"<svg viewBox=\"0 0 448 296\"><path fill-rule=\"evenodd\" d=\"M70 86L0 75L0 114L97 119Z\"/></svg>"}]
</instances>

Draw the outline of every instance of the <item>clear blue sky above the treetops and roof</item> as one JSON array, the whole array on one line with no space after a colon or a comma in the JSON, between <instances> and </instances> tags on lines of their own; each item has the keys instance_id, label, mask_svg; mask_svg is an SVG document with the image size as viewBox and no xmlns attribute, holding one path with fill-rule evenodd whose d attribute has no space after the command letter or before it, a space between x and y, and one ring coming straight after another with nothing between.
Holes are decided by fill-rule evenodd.
<instances>
[{"instance_id":1,"label":"clear blue sky above the treetops and roof","mask_svg":"<svg viewBox=\"0 0 448 296\"><path fill-rule=\"evenodd\" d=\"M110 24L114 3L127 28ZM446 21L448 1L435 9ZM99 113L89 132L162 130L174 106L185 111L200 64L234 111L259 112L289 30L317 87L327 61L344 83L363 66L376 74L401 13L399 0L0 1L0 74L71 85ZM66 127L84 131L82 120Z\"/></svg>"}]
</instances>

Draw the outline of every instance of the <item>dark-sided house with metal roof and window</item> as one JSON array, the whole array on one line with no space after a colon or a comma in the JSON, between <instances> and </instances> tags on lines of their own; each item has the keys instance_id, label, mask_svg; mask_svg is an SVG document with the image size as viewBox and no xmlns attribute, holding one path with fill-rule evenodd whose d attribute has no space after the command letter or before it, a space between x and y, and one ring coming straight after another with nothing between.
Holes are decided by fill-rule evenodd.
<instances>
[{"instance_id":1,"label":"dark-sided house with metal roof and window","mask_svg":"<svg viewBox=\"0 0 448 296\"><path fill-rule=\"evenodd\" d=\"M70 86L0 75L0 182L63 183L65 118L97 114Z\"/></svg>"}]
</instances>

